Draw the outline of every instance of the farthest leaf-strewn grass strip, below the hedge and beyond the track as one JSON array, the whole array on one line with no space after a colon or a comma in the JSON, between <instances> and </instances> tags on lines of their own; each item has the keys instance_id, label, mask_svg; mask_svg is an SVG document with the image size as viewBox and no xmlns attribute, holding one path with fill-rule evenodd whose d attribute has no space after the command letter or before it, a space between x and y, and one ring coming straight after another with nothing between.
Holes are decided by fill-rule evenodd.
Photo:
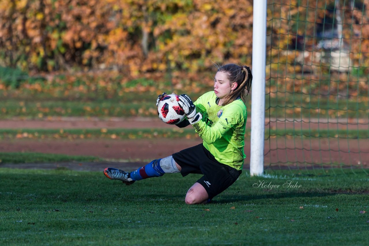
<instances>
[{"instance_id":1,"label":"farthest leaf-strewn grass strip, below the hedge and beyond the track","mask_svg":"<svg viewBox=\"0 0 369 246\"><path fill-rule=\"evenodd\" d=\"M212 89L204 90L210 91ZM199 94L192 95L198 98ZM0 98L0 119L44 118L44 117L157 117L155 94L137 94L137 97L61 99L38 98ZM307 102L307 100L309 100ZM246 103L251 113L251 101ZM359 100L328 100L327 98L293 97L287 93L270 98L266 96L266 116L286 118L368 118L368 102ZM286 110L287 109L287 110Z\"/></svg>"}]
</instances>

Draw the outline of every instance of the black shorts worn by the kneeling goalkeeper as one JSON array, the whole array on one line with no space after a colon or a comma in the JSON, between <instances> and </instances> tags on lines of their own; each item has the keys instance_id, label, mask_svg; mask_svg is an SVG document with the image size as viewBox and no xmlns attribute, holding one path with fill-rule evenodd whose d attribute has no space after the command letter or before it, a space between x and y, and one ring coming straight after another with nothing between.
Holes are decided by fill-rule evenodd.
<instances>
[{"instance_id":1,"label":"black shorts worn by the kneeling goalkeeper","mask_svg":"<svg viewBox=\"0 0 369 246\"><path fill-rule=\"evenodd\" d=\"M215 160L202 143L174 153L172 157L182 168L183 177L190 173L204 174L197 183L205 188L210 199L230 187L242 173Z\"/></svg>"}]
</instances>

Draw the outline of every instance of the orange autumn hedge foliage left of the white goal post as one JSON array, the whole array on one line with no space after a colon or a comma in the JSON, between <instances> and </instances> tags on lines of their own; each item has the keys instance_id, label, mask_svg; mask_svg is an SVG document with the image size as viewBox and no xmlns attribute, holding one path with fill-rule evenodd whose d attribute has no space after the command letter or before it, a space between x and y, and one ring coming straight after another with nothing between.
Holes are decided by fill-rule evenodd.
<instances>
[{"instance_id":1,"label":"orange autumn hedge foliage left of the white goal post","mask_svg":"<svg viewBox=\"0 0 369 246\"><path fill-rule=\"evenodd\" d=\"M0 65L28 71L251 63L251 0L2 0L0 22Z\"/></svg>"}]
</instances>

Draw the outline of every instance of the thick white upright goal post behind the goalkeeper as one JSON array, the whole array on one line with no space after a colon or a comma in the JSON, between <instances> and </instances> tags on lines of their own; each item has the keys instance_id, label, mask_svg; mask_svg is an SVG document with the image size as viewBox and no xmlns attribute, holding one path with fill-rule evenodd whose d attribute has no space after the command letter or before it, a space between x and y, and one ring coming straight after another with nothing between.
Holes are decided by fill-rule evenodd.
<instances>
[{"instance_id":1,"label":"thick white upright goal post behind the goalkeeper","mask_svg":"<svg viewBox=\"0 0 369 246\"><path fill-rule=\"evenodd\" d=\"M264 171L266 4L254 0L252 24L252 90L250 175Z\"/></svg>"}]
</instances>

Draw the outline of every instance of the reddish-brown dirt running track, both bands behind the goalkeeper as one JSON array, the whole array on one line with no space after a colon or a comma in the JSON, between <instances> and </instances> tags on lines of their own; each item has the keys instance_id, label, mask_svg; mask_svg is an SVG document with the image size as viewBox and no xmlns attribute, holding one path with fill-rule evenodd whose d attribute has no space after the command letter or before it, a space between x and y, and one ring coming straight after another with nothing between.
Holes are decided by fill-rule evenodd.
<instances>
[{"instance_id":1,"label":"reddish-brown dirt running track, both bands behind the goalkeeper","mask_svg":"<svg viewBox=\"0 0 369 246\"><path fill-rule=\"evenodd\" d=\"M248 120L250 127L251 120ZM347 122L346 122L347 123ZM368 129L367 122L320 122L319 127L330 129ZM304 122L272 121L271 127L278 124L278 128L315 129L318 124ZM283 124L283 125L282 125ZM91 128L173 128L163 124L159 119L152 118L111 118L99 120L96 118L50 118L45 120L1 120L1 129L91 129ZM190 126L189 126L190 127ZM142 139L142 140L32 140L11 139L0 140L0 152L40 152L66 155L97 156L114 159L114 162L105 163L51 163L51 164L17 164L24 168L55 168L66 166L73 170L101 170L103 167L113 165L122 169L135 169L138 166L156 159L165 157L181 149L201 143L201 139ZM265 142L265 163L345 163L355 166L369 166L369 143L357 139L270 139ZM319 151L321 150L321 151ZM249 142L245 142L245 167L249 163ZM116 160L119 160L118 162ZM0 167L7 167L0 164Z\"/></svg>"}]
</instances>

